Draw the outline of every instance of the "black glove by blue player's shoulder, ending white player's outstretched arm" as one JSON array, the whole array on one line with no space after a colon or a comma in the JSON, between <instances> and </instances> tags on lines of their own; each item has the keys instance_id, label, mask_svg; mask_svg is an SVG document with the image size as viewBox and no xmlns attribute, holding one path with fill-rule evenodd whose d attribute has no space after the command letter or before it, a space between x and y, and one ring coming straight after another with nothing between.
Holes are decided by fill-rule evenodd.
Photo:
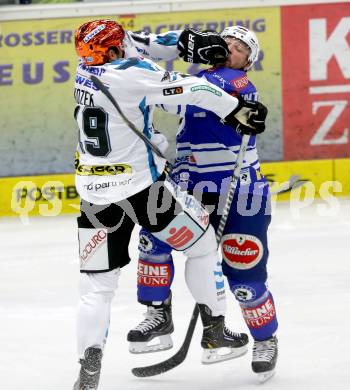
<instances>
[{"instance_id":1,"label":"black glove by blue player's shoulder, ending white player's outstretched arm","mask_svg":"<svg viewBox=\"0 0 350 390\"><path fill-rule=\"evenodd\" d=\"M256 135L265 130L267 107L260 102L246 101L237 96L238 106L225 118L239 134Z\"/></svg>"}]
</instances>

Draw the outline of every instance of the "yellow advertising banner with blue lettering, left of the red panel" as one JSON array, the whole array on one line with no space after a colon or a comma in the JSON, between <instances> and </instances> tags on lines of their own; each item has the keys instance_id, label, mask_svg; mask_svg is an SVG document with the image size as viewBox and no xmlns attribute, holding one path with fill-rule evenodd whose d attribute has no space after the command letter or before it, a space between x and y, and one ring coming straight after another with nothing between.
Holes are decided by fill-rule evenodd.
<instances>
[{"instance_id":1,"label":"yellow advertising banner with blue lettering, left of the red panel","mask_svg":"<svg viewBox=\"0 0 350 390\"><path fill-rule=\"evenodd\" d=\"M77 128L73 119L73 77L77 64L74 30L83 22L113 18L127 30L153 33L183 29L221 31L241 24L261 42L261 56L249 77L270 109L269 133L261 139L266 159L281 158L280 10L278 7L100 15L0 23L0 176L73 171ZM195 73L182 60L161 63L168 70ZM160 123L160 130L167 122ZM176 128L172 129L173 132Z\"/></svg>"}]
</instances>

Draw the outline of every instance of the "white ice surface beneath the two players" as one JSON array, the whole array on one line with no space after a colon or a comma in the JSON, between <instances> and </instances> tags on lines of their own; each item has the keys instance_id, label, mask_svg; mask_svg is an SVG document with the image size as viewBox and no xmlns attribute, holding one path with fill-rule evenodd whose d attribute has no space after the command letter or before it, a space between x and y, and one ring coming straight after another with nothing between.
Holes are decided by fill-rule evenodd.
<instances>
[{"instance_id":1,"label":"white ice surface beneath the two players","mask_svg":"<svg viewBox=\"0 0 350 390\"><path fill-rule=\"evenodd\" d=\"M28 225L18 218L0 219L0 383L5 390L73 386L79 369L76 237L73 216L31 218ZM126 334L144 311L136 302L136 248L137 231L130 247L133 262L123 270L113 303L101 390L349 388L349 199L333 205L320 201L298 213L289 203L277 205L270 229L269 282L280 323L280 357L276 376L264 385L251 372L251 348L242 358L201 365L198 325L181 366L158 377L133 377L132 367L159 362L178 349L193 308L183 278L184 259L176 254L175 346L141 356L128 352ZM243 331L238 305L229 291L227 296L228 323Z\"/></svg>"}]
</instances>

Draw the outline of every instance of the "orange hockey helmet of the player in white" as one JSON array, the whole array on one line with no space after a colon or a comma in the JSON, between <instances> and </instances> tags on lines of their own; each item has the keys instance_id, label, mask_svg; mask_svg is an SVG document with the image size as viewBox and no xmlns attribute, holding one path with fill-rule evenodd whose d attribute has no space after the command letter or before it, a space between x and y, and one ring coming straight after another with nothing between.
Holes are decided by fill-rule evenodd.
<instances>
[{"instance_id":1,"label":"orange hockey helmet of the player in white","mask_svg":"<svg viewBox=\"0 0 350 390\"><path fill-rule=\"evenodd\" d=\"M102 65L109 61L108 49L123 44L125 31L114 20L93 20L75 32L75 50L86 65Z\"/></svg>"}]
</instances>

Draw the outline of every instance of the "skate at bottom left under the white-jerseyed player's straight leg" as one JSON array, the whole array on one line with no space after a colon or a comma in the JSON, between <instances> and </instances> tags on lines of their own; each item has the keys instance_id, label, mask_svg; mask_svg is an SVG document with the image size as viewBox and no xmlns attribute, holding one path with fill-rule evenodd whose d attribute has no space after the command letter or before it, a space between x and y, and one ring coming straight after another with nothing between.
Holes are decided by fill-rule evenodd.
<instances>
[{"instance_id":1,"label":"skate at bottom left under the white-jerseyed player's straight leg","mask_svg":"<svg viewBox=\"0 0 350 390\"><path fill-rule=\"evenodd\" d=\"M80 373L73 390L96 390L100 380L102 350L98 347L90 347L84 353L84 359L80 359Z\"/></svg>"}]
</instances>

